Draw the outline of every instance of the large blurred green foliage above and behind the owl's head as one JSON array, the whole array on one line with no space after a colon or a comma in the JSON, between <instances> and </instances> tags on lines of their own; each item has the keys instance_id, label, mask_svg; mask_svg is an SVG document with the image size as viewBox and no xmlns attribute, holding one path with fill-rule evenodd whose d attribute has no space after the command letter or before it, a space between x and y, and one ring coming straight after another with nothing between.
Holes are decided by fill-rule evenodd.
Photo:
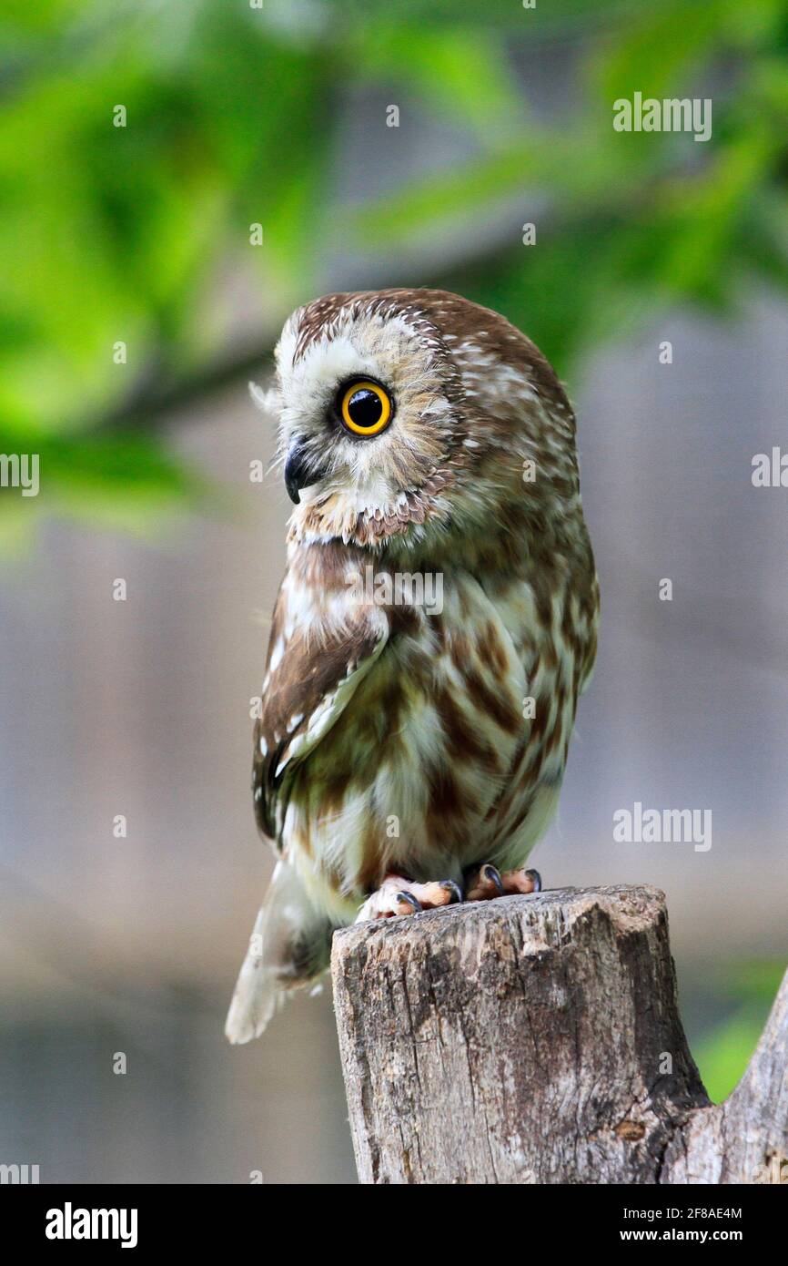
<instances>
[{"instance_id":1,"label":"large blurred green foliage above and behind the owl's head","mask_svg":"<svg viewBox=\"0 0 788 1266\"><path fill-rule=\"evenodd\" d=\"M784 289L787 33L785 0L11 0L0 451L40 452L44 470L46 448L46 510L110 506L138 527L188 504L199 481L130 401L231 361L229 276L257 286L262 341L321 287L338 249L372 254L376 276L391 261L396 282L403 251L426 260L459 234L467 262L424 280L500 308L564 373L668 304L722 311L754 279ZM579 86L544 122L514 67L557 46L576 52ZM381 119L371 184L385 195L345 189L342 122L367 90L407 108L409 127L422 111L464 133L473 160L392 189ZM712 139L613 132L613 100L635 90L712 95ZM125 128L113 125L119 104ZM478 227L512 200L538 222L538 246L514 234L479 260ZM249 246L257 222L262 248ZM116 411L133 454L105 427ZM33 518L0 494L0 544Z\"/></svg>"}]
</instances>

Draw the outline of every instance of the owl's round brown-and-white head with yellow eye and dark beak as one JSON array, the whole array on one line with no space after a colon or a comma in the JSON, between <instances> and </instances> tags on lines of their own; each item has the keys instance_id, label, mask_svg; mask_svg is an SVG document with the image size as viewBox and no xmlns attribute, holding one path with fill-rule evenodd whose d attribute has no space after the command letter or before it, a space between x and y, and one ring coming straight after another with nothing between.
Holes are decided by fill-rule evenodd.
<instances>
[{"instance_id":1,"label":"owl's round brown-and-white head with yellow eye and dark beak","mask_svg":"<svg viewBox=\"0 0 788 1266\"><path fill-rule=\"evenodd\" d=\"M441 290L328 295L288 318L276 365L292 539L455 547L579 506L569 403L497 313Z\"/></svg>"}]
</instances>

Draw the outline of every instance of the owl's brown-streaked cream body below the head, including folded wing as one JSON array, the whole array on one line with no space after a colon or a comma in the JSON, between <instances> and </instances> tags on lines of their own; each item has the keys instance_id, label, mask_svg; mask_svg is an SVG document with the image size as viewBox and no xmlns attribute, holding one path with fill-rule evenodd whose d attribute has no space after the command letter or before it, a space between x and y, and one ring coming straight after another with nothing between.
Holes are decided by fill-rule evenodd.
<instances>
[{"instance_id":1,"label":"owl's brown-streaked cream body below the head, including folded wing","mask_svg":"<svg viewBox=\"0 0 788 1266\"><path fill-rule=\"evenodd\" d=\"M336 542L291 547L254 736L258 824L338 920L388 868L522 863L596 648L584 557L448 571L431 613L359 603L358 566Z\"/></svg>"}]
</instances>

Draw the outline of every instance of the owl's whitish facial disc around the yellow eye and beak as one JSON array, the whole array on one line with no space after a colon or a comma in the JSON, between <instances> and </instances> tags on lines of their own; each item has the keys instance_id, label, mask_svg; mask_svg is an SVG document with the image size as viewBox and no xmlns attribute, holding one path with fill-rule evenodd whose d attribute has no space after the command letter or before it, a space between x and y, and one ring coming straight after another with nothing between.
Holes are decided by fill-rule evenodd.
<instances>
[{"instance_id":1,"label":"owl's whitish facial disc around the yellow eye and beak","mask_svg":"<svg viewBox=\"0 0 788 1266\"><path fill-rule=\"evenodd\" d=\"M436 335L354 303L314 325L317 310L293 314L276 353L295 530L381 541L426 515L445 517L435 479L458 423Z\"/></svg>"}]
</instances>

